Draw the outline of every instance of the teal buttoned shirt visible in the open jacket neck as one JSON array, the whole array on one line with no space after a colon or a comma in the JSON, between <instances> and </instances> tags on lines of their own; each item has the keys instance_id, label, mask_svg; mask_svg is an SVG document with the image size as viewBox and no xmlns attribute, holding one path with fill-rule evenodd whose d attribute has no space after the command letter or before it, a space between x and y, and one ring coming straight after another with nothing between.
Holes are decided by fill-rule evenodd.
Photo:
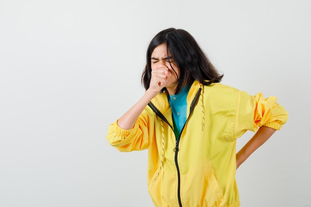
<instances>
[{"instance_id":1,"label":"teal buttoned shirt visible in the open jacket neck","mask_svg":"<svg viewBox=\"0 0 311 207\"><path fill-rule=\"evenodd\" d=\"M169 104L172 109L174 133L179 138L180 131L187 120L188 85L184 86L177 95L169 95Z\"/></svg>"}]
</instances>

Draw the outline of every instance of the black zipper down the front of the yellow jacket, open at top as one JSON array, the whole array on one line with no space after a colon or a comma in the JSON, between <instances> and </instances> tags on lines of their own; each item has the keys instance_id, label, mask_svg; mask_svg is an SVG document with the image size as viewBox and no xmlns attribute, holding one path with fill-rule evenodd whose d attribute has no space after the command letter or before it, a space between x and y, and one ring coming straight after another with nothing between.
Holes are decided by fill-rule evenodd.
<instances>
[{"instance_id":1,"label":"black zipper down the front of the yellow jacket, open at top","mask_svg":"<svg viewBox=\"0 0 311 207\"><path fill-rule=\"evenodd\" d=\"M186 126L186 123L187 121L189 120L189 117L190 115L192 114L193 112L193 109L194 109L194 106L199 98L199 95L200 95L200 92L201 92L202 88L199 88L197 94L195 95L191 105L190 105L190 112L189 112L189 116L184 124L184 126L182 127L180 133L179 133L179 137L177 139L175 133L175 138L176 138L176 146L174 148L174 152L175 152L175 165L176 165L176 169L177 169L177 178L178 178L178 187L177 187L177 197L178 197L178 204L179 204L179 207L182 207L182 204L181 204L181 198L180 198L180 171L179 171L179 166L178 166L178 161L177 161L177 155L178 155L178 151L179 151L179 140L180 140L180 137L181 137L181 133L183 131L183 129L185 128ZM166 120L166 118L164 117L164 115L156 108L156 106L152 103L152 102L149 102L148 103L148 106L150 106L150 108L156 113L156 115L162 119L166 124L168 124L168 126L174 131L173 127L168 123L168 121Z\"/></svg>"}]
</instances>

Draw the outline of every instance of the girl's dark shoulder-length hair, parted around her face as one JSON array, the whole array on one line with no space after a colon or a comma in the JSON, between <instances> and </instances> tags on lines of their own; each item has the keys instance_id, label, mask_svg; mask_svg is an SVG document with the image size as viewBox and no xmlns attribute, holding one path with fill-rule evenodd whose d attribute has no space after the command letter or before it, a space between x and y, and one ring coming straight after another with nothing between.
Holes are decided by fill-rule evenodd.
<instances>
[{"instance_id":1,"label":"girl's dark shoulder-length hair, parted around her face","mask_svg":"<svg viewBox=\"0 0 311 207\"><path fill-rule=\"evenodd\" d=\"M179 68L175 94L180 92L185 83L188 84L194 80L203 85L222 80L224 75L218 73L198 43L187 31L169 28L157 33L147 49L147 64L142 75L142 84L146 90L149 88L151 80L151 54L161 44L166 45L167 54L171 54L174 64ZM161 92L164 90L165 88Z\"/></svg>"}]
</instances>

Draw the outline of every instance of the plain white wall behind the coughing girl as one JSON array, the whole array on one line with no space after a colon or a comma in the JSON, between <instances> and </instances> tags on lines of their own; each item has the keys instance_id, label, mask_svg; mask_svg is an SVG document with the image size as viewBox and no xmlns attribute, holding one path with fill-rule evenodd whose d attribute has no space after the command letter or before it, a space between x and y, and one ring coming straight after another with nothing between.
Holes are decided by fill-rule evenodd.
<instances>
[{"instance_id":1,"label":"plain white wall behind the coughing girl","mask_svg":"<svg viewBox=\"0 0 311 207\"><path fill-rule=\"evenodd\" d=\"M223 84L289 120L237 170L241 207L311 207L310 0L0 0L0 207L152 207L147 151L108 126L144 93L146 50L182 28ZM253 135L237 140L237 148Z\"/></svg>"}]
</instances>

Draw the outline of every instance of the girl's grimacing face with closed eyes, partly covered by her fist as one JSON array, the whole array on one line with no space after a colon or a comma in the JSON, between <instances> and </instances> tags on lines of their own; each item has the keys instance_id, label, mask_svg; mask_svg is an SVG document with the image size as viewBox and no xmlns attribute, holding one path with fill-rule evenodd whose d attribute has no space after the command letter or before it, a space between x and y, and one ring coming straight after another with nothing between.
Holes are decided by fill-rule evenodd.
<instances>
[{"instance_id":1,"label":"girl's grimacing face with closed eyes, partly covered by her fist","mask_svg":"<svg viewBox=\"0 0 311 207\"><path fill-rule=\"evenodd\" d=\"M174 59L171 57L170 53L166 53L165 44L157 46L151 54L151 69L155 70L160 68L168 69L168 72L170 73L170 78L165 87L167 90L174 91L177 87L179 69L175 65Z\"/></svg>"}]
</instances>

